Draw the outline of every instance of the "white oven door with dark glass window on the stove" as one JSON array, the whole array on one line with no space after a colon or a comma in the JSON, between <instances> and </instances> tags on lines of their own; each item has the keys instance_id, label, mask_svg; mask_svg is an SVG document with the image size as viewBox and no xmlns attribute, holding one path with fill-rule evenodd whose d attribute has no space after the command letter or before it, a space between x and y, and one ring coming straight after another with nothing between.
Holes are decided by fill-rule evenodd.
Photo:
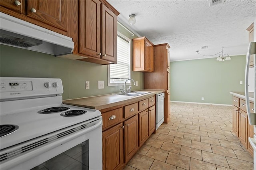
<instances>
[{"instance_id":1,"label":"white oven door with dark glass window on the stove","mask_svg":"<svg viewBox=\"0 0 256 170\"><path fill-rule=\"evenodd\" d=\"M76 128L80 130L76 131ZM54 135L57 137L52 137ZM48 138L48 142L36 148L28 148L32 146L31 141L25 142L26 146L20 147L27 150L20 154L17 154L17 148L14 147L1 150L8 151L10 155L10 158L7 157L1 162L1 170L102 169L102 117L44 135L42 138ZM14 152L16 156L12 156Z\"/></svg>"}]
</instances>

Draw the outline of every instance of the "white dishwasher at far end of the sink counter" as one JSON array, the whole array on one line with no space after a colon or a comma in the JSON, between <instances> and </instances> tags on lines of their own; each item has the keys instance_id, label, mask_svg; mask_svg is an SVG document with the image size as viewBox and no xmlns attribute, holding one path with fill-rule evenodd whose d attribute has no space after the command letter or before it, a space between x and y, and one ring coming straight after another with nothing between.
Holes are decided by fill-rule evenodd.
<instances>
[{"instance_id":1,"label":"white dishwasher at far end of the sink counter","mask_svg":"<svg viewBox=\"0 0 256 170\"><path fill-rule=\"evenodd\" d=\"M164 122L164 93L156 95L156 129Z\"/></svg>"}]
</instances>

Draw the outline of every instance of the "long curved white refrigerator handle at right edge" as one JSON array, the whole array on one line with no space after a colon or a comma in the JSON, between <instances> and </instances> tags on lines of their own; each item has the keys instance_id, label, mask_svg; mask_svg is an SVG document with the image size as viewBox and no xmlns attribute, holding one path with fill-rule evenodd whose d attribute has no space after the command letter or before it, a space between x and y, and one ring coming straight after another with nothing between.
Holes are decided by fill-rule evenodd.
<instances>
[{"instance_id":1,"label":"long curved white refrigerator handle at right edge","mask_svg":"<svg viewBox=\"0 0 256 170\"><path fill-rule=\"evenodd\" d=\"M248 115L248 121L250 123L250 125L256 125L256 113L252 113L250 111L250 101L249 101L249 95L248 95L248 73L249 73L249 65L250 65L250 55L255 55L256 54L256 42L250 42L249 43L249 48L248 48L248 52L247 52L247 55L246 55L246 67L245 67L245 101L246 101L246 110L247 110L247 115ZM254 61L256 62L256 61ZM255 65L254 65L254 69L255 68ZM255 70L254 70L254 81L255 81L255 77L256 76L256 73L255 73ZM256 84L256 83L255 83ZM254 85L255 85L254 84ZM256 92L255 92L255 87L254 87L254 99L255 99L255 96L256 96ZM256 105L256 102L254 101L254 108Z\"/></svg>"}]
</instances>

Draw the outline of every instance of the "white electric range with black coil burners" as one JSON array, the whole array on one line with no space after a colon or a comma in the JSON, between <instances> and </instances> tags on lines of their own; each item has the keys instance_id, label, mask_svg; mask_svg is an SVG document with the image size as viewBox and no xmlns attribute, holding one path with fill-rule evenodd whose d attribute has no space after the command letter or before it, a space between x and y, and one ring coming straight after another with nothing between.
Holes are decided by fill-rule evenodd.
<instances>
[{"instance_id":1,"label":"white electric range with black coil burners","mask_svg":"<svg viewBox=\"0 0 256 170\"><path fill-rule=\"evenodd\" d=\"M61 79L0 77L0 84L1 170L102 169L100 111L62 104Z\"/></svg>"}]
</instances>

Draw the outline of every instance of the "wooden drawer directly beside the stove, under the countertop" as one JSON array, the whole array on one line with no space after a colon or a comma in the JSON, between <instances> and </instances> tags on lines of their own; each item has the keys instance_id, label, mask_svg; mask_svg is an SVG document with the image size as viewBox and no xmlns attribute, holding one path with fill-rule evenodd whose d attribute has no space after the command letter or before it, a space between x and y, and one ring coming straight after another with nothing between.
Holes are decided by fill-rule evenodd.
<instances>
[{"instance_id":1,"label":"wooden drawer directly beside the stove, under the countertop","mask_svg":"<svg viewBox=\"0 0 256 170\"><path fill-rule=\"evenodd\" d=\"M102 113L103 125L102 128L106 128L114 123L117 123L122 120L122 108L115 109Z\"/></svg>"}]
</instances>

